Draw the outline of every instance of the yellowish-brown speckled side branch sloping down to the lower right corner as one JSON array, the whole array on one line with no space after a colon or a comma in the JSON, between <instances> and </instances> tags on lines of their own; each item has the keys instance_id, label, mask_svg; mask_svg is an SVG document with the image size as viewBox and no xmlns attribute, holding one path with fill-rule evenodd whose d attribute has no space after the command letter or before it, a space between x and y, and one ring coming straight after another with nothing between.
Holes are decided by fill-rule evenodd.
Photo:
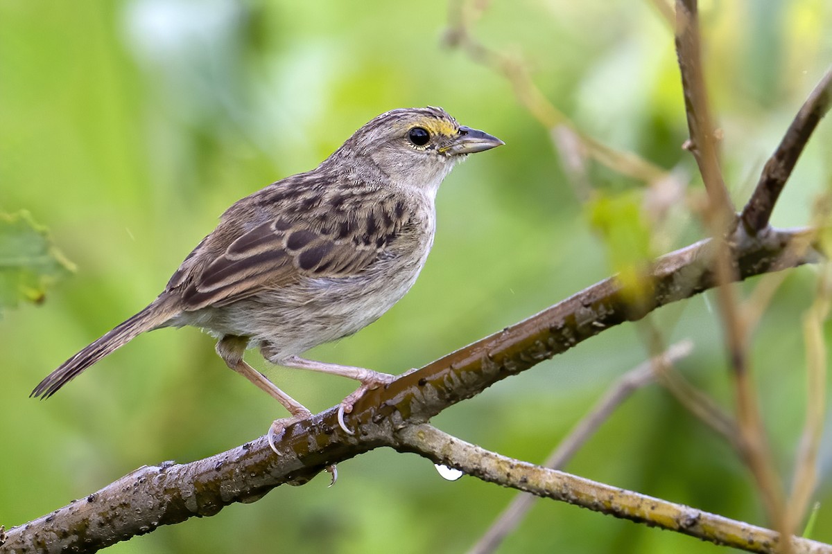
<instances>
[{"instance_id":1,"label":"yellowish-brown speckled side branch sloping down to the lower right corner","mask_svg":"<svg viewBox=\"0 0 832 554\"><path fill-rule=\"evenodd\" d=\"M716 544L748 552L781 552L780 535L727 517L670 503L622 488L579 478L556 469L520 462L469 444L428 424L411 425L397 434L402 452L417 452L458 468L469 475L503 486L518 488L540 497L553 498L587 507L632 522L648 523ZM792 552L832 554L832 546L804 538L790 537Z\"/></svg>"}]
</instances>

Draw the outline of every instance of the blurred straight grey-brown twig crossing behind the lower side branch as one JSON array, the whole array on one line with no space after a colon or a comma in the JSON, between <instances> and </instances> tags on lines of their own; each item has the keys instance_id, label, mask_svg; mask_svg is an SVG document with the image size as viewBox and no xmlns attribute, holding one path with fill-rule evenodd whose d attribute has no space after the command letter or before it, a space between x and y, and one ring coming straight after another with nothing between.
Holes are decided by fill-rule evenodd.
<instances>
[{"instance_id":1,"label":"blurred straight grey-brown twig crossing behind the lower side branch","mask_svg":"<svg viewBox=\"0 0 832 554\"><path fill-rule=\"evenodd\" d=\"M627 371L615 383L610 386L607 393L592 407L589 413L581 419L567 437L557 446L543 467L550 469L562 468L572 459L578 449L594 434L597 429L612 415L612 412L627 400L632 393L649 384L655 375L654 365L670 365L686 355L690 355L693 349L691 341L681 341L672 345L664 354L658 355L651 360L637 365ZM508 507L503 510L497 519L488 527L468 554L489 554L497 550L508 533L512 532L525 517L537 497L529 493L519 493Z\"/></svg>"}]
</instances>

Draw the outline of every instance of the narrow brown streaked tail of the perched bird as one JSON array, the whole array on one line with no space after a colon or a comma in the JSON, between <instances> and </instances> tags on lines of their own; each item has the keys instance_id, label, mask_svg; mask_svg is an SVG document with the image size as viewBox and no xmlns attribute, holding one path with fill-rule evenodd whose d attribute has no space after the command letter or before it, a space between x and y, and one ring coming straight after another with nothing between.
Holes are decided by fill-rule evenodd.
<instances>
[{"instance_id":1,"label":"narrow brown streaked tail of the perched bird","mask_svg":"<svg viewBox=\"0 0 832 554\"><path fill-rule=\"evenodd\" d=\"M166 302L164 297L156 298L150 306L119 324L106 335L87 345L82 351L63 362L57 370L47 375L46 379L42 380L29 396L49 398L63 385L74 379L76 375L86 370L87 367L126 345L139 333L151 331L163 325L175 314L176 309L171 306L171 302Z\"/></svg>"}]
</instances>

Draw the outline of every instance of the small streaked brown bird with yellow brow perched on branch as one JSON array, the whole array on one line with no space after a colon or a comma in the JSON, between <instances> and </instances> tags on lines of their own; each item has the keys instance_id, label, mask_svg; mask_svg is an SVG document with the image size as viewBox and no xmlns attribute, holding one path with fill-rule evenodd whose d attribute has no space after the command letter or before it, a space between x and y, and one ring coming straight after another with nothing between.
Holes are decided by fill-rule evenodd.
<instances>
[{"instance_id":1,"label":"small streaked brown bird with yellow brow perched on branch","mask_svg":"<svg viewBox=\"0 0 832 554\"><path fill-rule=\"evenodd\" d=\"M503 144L438 107L374 117L317 168L232 204L153 302L65 361L30 396L54 395L143 332L195 326L215 336L230 369L290 412L270 427L275 452L275 434L311 412L243 360L249 348L275 365L359 381L338 411L340 427L353 434L344 414L394 376L301 355L368 326L404 297L433 245L439 184L468 154Z\"/></svg>"}]
</instances>

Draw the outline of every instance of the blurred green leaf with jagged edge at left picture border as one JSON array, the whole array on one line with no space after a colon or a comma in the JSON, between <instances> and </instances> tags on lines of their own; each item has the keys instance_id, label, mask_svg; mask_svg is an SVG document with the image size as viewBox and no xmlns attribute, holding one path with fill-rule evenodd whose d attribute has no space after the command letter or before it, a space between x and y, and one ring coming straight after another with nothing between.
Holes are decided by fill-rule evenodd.
<instances>
[{"instance_id":1,"label":"blurred green leaf with jagged edge at left picture border","mask_svg":"<svg viewBox=\"0 0 832 554\"><path fill-rule=\"evenodd\" d=\"M21 300L43 302L47 288L73 271L30 213L0 213L0 313Z\"/></svg>"}]
</instances>

